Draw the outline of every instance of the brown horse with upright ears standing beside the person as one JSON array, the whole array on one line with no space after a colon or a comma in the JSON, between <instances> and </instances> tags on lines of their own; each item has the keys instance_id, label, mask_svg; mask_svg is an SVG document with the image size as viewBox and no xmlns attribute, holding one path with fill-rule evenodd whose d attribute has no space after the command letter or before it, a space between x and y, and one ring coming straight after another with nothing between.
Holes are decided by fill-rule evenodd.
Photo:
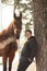
<instances>
[{"instance_id":1,"label":"brown horse with upright ears standing beside the person","mask_svg":"<svg viewBox=\"0 0 47 71\"><path fill-rule=\"evenodd\" d=\"M0 33L0 56L3 61L3 71L7 71L7 59L9 58L9 71L11 71L12 61L17 50L16 39L20 38L22 29L22 13L16 16L14 13L14 19L10 26Z\"/></svg>"}]
</instances>

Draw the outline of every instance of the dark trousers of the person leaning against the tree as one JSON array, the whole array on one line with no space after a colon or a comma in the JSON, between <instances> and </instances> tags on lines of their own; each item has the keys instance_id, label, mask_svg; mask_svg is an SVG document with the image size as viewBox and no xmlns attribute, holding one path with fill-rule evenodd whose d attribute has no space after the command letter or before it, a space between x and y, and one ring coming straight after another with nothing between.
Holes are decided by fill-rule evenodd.
<instances>
[{"instance_id":1,"label":"dark trousers of the person leaning against the tree","mask_svg":"<svg viewBox=\"0 0 47 71\"><path fill-rule=\"evenodd\" d=\"M27 59L20 59L17 71L25 71L31 63Z\"/></svg>"}]
</instances>

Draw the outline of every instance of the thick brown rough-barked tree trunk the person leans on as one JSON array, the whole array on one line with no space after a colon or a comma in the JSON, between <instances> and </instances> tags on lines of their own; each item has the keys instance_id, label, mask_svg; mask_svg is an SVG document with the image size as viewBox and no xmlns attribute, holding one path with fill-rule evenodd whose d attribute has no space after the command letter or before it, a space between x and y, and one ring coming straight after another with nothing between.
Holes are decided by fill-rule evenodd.
<instances>
[{"instance_id":1,"label":"thick brown rough-barked tree trunk the person leans on","mask_svg":"<svg viewBox=\"0 0 47 71\"><path fill-rule=\"evenodd\" d=\"M33 0L34 32L38 44L36 71L47 71L47 0Z\"/></svg>"}]
</instances>

